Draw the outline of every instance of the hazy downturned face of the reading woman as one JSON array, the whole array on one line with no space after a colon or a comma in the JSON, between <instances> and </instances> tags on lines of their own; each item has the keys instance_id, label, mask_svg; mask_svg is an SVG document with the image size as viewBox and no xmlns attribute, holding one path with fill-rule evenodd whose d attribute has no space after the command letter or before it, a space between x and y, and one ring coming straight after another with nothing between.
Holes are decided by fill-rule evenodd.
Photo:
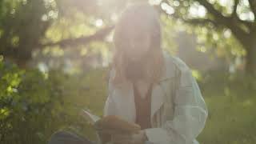
<instances>
[{"instance_id":1,"label":"hazy downturned face of the reading woman","mask_svg":"<svg viewBox=\"0 0 256 144\"><path fill-rule=\"evenodd\" d=\"M125 53L131 61L140 60L150 49L149 34L134 34L127 41L129 46L125 49Z\"/></svg>"}]
</instances>

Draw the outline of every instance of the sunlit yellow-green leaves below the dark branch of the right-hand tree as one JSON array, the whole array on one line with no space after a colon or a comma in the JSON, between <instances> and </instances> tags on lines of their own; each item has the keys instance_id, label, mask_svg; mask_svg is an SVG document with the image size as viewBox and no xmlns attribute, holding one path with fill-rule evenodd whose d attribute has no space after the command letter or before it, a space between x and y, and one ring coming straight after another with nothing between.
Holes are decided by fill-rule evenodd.
<instances>
[{"instance_id":1,"label":"sunlit yellow-green leaves below the dark branch of the right-hand tree","mask_svg":"<svg viewBox=\"0 0 256 144\"><path fill-rule=\"evenodd\" d=\"M192 27L189 27L191 30ZM234 63L236 59L246 56L246 50L234 38L228 29L215 29L211 26L194 26L193 30L198 35L198 51L212 51L226 62ZM241 59L240 59L241 60Z\"/></svg>"}]
</instances>

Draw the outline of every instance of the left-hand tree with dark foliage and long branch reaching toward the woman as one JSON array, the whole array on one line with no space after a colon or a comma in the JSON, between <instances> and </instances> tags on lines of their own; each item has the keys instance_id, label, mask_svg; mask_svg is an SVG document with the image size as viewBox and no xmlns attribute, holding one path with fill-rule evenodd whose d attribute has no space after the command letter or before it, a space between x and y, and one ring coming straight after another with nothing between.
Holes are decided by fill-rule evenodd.
<instances>
[{"instance_id":1,"label":"left-hand tree with dark foliage and long branch reaching toward the woman","mask_svg":"<svg viewBox=\"0 0 256 144\"><path fill-rule=\"evenodd\" d=\"M65 48L103 41L113 26L102 29L91 26L90 18L99 17L96 4L96 1L90 0L0 1L0 54L20 67L26 67L27 62L32 59L33 52L43 50L46 46L58 45ZM67 34L70 29L66 29L62 30L62 35L68 36L63 36L58 42L46 37L47 31L53 25L62 28L58 22L68 20L77 22L78 19L72 20L75 14L87 18L83 24L94 31L94 34L80 34L80 37L74 37L72 34ZM71 25L75 26L75 24ZM52 33L52 35L56 34Z\"/></svg>"}]
</instances>

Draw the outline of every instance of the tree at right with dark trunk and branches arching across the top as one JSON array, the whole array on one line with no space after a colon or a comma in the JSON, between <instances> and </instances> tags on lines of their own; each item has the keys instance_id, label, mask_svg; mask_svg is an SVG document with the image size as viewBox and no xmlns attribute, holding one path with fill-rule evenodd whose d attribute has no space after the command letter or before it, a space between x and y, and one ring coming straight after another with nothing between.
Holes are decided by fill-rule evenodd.
<instances>
[{"instance_id":1,"label":"tree at right with dark trunk and branches arching across the top","mask_svg":"<svg viewBox=\"0 0 256 144\"><path fill-rule=\"evenodd\" d=\"M165 8L165 5L167 7ZM256 74L256 1L164 0L162 8L171 18L195 26L229 29L246 50L246 72ZM168 7L169 6L169 7ZM201 11L194 15L193 9ZM173 10L173 12L172 12ZM205 12L205 14L204 14Z\"/></svg>"}]
</instances>

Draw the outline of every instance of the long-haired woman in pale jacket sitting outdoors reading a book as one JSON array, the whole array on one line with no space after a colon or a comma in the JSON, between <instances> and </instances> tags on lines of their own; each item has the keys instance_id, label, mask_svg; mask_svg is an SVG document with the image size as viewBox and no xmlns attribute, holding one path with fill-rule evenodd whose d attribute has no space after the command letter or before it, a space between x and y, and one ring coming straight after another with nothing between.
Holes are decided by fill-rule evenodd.
<instances>
[{"instance_id":1,"label":"long-haired woman in pale jacket sitting outdoors reading a book","mask_svg":"<svg viewBox=\"0 0 256 144\"><path fill-rule=\"evenodd\" d=\"M186 63L162 50L161 35L158 13L146 3L127 8L115 27L104 115L117 115L142 130L113 134L113 143L198 143L206 103Z\"/></svg>"}]
</instances>

